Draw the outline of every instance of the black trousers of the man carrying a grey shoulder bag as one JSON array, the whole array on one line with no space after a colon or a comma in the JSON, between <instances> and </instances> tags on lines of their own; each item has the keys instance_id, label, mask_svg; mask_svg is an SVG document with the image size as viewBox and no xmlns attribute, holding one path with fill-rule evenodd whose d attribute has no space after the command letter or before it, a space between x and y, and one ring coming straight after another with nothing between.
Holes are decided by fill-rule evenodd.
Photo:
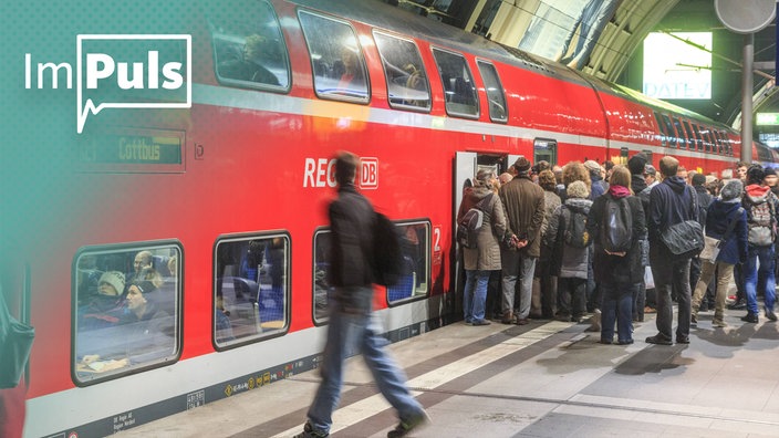
<instances>
[{"instance_id":1,"label":"black trousers of the man carrying a grey shoulder bag","mask_svg":"<svg viewBox=\"0 0 779 438\"><path fill-rule=\"evenodd\" d=\"M655 278L657 291L657 332L668 341L673 341L674 309L671 300L676 292L678 301L678 324L676 336L689 335L690 289L689 259L673 260L667 252L659 252L652 259L652 275Z\"/></svg>"}]
</instances>

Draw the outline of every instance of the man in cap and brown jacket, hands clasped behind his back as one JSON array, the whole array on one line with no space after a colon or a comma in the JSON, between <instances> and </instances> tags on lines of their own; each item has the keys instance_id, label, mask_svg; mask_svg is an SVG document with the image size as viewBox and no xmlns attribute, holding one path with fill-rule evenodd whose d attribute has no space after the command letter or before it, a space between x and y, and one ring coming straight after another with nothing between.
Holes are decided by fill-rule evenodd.
<instances>
[{"instance_id":1,"label":"man in cap and brown jacket, hands clasped behind his back","mask_svg":"<svg viewBox=\"0 0 779 438\"><path fill-rule=\"evenodd\" d=\"M499 192L508 222L501 250L503 324L528 324L536 260L541 254L544 197L543 189L530 179L530 166L527 158L519 157L513 164L517 176ZM515 288L518 278L517 303Z\"/></svg>"}]
</instances>

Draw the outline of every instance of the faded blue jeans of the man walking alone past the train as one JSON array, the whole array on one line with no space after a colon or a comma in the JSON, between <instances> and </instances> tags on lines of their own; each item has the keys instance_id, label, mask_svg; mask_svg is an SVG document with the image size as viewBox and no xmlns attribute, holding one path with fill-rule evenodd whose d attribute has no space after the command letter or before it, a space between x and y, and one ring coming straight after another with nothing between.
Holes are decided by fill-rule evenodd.
<instances>
[{"instance_id":1,"label":"faded blue jeans of the man walking alone past the train","mask_svg":"<svg viewBox=\"0 0 779 438\"><path fill-rule=\"evenodd\" d=\"M349 289L347 292L343 290L339 292L373 295L372 286ZM322 383L308 414L313 428L330 432L330 426L333 424L332 414L341 398L344 359L357 353L363 354L376 387L397 410L401 420L418 416L423 407L408 392L406 375L384 350L388 341L378 334L381 326L372 316L370 306L367 312L355 313L347 313L342 309L336 299L330 300L328 343L324 346L324 357L320 368Z\"/></svg>"}]
</instances>

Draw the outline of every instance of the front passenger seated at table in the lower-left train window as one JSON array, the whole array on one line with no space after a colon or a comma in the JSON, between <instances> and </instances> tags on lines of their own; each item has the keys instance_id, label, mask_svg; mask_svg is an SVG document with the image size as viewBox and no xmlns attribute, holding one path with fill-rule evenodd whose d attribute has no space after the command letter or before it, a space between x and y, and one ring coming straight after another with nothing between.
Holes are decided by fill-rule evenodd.
<instances>
[{"instance_id":1,"label":"front passenger seated at table in the lower-left train window","mask_svg":"<svg viewBox=\"0 0 779 438\"><path fill-rule=\"evenodd\" d=\"M174 354L173 316L158 307L159 292L150 281L127 288L127 312L120 325L80 336L80 372L103 373Z\"/></svg>"}]
</instances>

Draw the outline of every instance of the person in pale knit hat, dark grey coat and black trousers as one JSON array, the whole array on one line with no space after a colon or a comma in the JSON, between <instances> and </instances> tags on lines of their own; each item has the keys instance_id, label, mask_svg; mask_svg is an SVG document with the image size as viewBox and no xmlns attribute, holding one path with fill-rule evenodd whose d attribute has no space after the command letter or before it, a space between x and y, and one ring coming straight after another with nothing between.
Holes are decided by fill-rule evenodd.
<instances>
[{"instance_id":1,"label":"person in pale knit hat, dark grey coat and black trousers","mask_svg":"<svg viewBox=\"0 0 779 438\"><path fill-rule=\"evenodd\" d=\"M546 240L552 250L551 261L558 277L558 312L554 317L579 322L586 312L586 281L590 260L590 234L586 220L592 201L584 181L568 185L568 198L549 220ZM560 229L560 231L558 231Z\"/></svg>"}]
</instances>

